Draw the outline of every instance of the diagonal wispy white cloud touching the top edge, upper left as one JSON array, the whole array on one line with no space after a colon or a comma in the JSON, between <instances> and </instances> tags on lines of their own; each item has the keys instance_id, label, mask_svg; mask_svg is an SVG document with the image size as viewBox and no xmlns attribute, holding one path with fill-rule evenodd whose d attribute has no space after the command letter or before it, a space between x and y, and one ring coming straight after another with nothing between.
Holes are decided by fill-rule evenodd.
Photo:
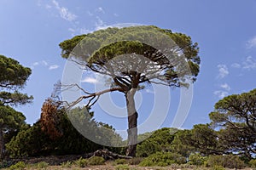
<instances>
[{"instance_id":1,"label":"diagonal wispy white cloud touching the top edge, upper left","mask_svg":"<svg viewBox=\"0 0 256 170\"><path fill-rule=\"evenodd\" d=\"M52 0L52 3L55 5L55 8L58 10L62 19L67 21L73 21L77 19L78 16L76 14L69 12L65 7L61 7L61 5L56 0Z\"/></svg>"}]
</instances>

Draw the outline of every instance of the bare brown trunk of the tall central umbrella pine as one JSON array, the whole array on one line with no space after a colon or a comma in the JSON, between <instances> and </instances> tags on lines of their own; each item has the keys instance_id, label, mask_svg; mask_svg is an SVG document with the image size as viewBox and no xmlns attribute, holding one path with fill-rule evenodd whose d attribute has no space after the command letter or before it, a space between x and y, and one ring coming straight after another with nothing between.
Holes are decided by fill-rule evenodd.
<instances>
[{"instance_id":1,"label":"bare brown trunk of the tall central umbrella pine","mask_svg":"<svg viewBox=\"0 0 256 170\"><path fill-rule=\"evenodd\" d=\"M137 88L131 88L126 94L126 106L128 114L128 148L126 150L126 156L136 156L136 147L137 147L137 111L135 108L134 95L137 91Z\"/></svg>"}]
</instances>

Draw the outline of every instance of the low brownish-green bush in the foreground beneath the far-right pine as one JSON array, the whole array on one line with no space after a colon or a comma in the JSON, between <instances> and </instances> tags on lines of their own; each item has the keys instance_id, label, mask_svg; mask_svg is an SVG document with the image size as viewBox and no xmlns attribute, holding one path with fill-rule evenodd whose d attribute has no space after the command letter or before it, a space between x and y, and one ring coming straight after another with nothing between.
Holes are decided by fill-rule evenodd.
<instances>
[{"instance_id":1,"label":"low brownish-green bush in the foreground beneath the far-right pine","mask_svg":"<svg viewBox=\"0 0 256 170\"><path fill-rule=\"evenodd\" d=\"M245 167L245 164L238 156L226 155L226 156L209 156L206 164L207 167L222 166L228 168L241 169Z\"/></svg>"}]
</instances>

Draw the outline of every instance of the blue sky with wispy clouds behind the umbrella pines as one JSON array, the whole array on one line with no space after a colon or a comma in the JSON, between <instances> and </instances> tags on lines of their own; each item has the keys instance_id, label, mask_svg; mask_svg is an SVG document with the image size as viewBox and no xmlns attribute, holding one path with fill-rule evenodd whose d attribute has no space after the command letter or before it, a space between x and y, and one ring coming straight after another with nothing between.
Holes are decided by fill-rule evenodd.
<instances>
[{"instance_id":1,"label":"blue sky with wispy clouds behind the umbrella pines","mask_svg":"<svg viewBox=\"0 0 256 170\"><path fill-rule=\"evenodd\" d=\"M0 0L0 54L32 68L23 91L34 96L33 104L17 110L33 123L54 83L61 80L66 60L61 59L58 44L63 40L119 23L183 32L199 43L201 56L193 103L183 124L190 128L209 122L218 99L256 87L255 18L255 0ZM171 90L170 115L177 110L179 92ZM143 108L147 102L141 112ZM102 110L94 110L100 120ZM170 126L172 118L168 116L162 126Z\"/></svg>"}]
</instances>

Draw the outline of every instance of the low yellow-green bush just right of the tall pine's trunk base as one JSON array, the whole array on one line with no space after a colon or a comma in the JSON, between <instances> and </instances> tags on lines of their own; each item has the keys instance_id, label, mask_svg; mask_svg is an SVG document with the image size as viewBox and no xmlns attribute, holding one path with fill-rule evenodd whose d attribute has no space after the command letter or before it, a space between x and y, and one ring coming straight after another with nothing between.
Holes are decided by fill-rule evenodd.
<instances>
[{"instance_id":1,"label":"low yellow-green bush just right of the tall pine's trunk base","mask_svg":"<svg viewBox=\"0 0 256 170\"><path fill-rule=\"evenodd\" d=\"M139 165L143 167L161 166L165 167L174 163L183 164L186 163L186 158L171 152L157 152L151 156L145 158Z\"/></svg>"}]
</instances>

